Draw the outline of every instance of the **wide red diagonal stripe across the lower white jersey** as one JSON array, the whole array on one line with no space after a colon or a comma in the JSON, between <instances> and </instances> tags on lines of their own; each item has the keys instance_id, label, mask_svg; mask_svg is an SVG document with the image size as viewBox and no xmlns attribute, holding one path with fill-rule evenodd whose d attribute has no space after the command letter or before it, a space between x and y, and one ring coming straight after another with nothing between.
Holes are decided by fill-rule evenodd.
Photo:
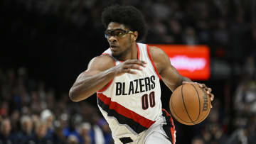
<instances>
[{"instance_id":1,"label":"wide red diagonal stripe across the lower white jersey","mask_svg":"<svg viewBox=\"0 0 256 144\"><path fill-rule=\"evenodd\" d=\"M134 111L131 111L125 108L124 106L122 106L121 104L118 104L117 102L111 101L109 97L105 96L102 93L98 93L97 96L104 104L108 105L110 109L117 111L117 113L119 113L122 116L131 118L133 121L139 123L145 128L149 128L155 122L147 118L144 118L143 116L140 116L138 113L135 113Z\"/></svg>"}]
</instances>

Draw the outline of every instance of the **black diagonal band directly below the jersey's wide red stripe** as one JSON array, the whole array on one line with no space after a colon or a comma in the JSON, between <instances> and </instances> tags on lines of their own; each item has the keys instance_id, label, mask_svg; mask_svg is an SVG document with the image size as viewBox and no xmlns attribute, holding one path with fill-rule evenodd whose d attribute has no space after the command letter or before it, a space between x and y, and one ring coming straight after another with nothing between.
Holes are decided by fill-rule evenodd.
<instances>
[{"instance_id":1,"label":"black diagonal band directly below the jersey's wide red stripe","mask_svg":"<svg viewBox=\"0 0 256 144\"><path fill-rule=\"evenodd\" d=\"M122 116L122 114L117 113L114 109L110 109L110 106L105 104L103 101L101 101L97 97L97 104L107 112L107 116L114 116L114 118L117 119L118 123L120 124L127 124L130 128L132 128L133 131L135 131L137 134L142 133L142 131L145 131L147 128L140 125L136 121L132 120L131 118L127 118L126 116Z\"/></svg>"}]
</instances>

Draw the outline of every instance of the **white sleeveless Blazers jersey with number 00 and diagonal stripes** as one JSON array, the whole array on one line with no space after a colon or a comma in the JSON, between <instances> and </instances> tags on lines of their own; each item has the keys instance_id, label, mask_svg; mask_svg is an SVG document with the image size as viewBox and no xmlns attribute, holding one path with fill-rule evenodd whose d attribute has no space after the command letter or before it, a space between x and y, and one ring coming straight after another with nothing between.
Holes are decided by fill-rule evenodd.
<instances>
[{"instance_id":1,"label":"white sleeveless Blazers jersey with number 00 and diagonal stripes","mask_svg":"<svg viewBox=\"0 0 256 144\"><path fill-rule=\"evenodd\" d=\"M114 77L97 92L97 104L109 123L115 143L124 143L122 138L138 139L156 121L164 118L159 82L161 76L151 58L149 46L137 43L137 54L138 60L147 63L142 71L133 70L137 74L125 73ZM110 48L102 55L112 56ZM114 60L115 65L121 63Z\"/></svg>"}]
</instances>

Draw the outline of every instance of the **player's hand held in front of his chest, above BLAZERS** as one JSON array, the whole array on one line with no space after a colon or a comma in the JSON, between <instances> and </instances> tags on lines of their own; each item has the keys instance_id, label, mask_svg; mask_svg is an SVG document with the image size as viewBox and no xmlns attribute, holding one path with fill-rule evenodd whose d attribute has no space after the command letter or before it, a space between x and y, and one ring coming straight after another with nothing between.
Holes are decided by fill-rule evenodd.
<instances>
[{"instance_id":1,"label":"player's hand held in front of his chest, above BLAZERS","mask_svg":"<svg viewBox=\"0 0 256 144\"><path fill-rule=\"evenodd\" d=\"M117 76L120 76L124 73L128 74L137 74L137 72L134 70L142 70L142 67L146 67L146 62L142 60L126 60L125 62L122 62L121 64L114 67L115 74Z\"/></svg>"}]
</instances>

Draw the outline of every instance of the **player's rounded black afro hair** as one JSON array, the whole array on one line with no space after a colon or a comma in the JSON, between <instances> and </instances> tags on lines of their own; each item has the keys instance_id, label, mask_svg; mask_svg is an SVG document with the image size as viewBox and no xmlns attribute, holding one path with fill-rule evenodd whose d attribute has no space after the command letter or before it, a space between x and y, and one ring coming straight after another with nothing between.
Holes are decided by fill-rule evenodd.
<instances>
[{"instance_id":1,"label":"player's rounded black afro hair","mask_svg":"<svg viewBox=\"0 0 256 144\"><path fill-rule=\"evenodd\" d=\"M108 6L102 12L102 24L105 28L111 23L122 23L131 28L131 31L138 31L137 40L143 40L146 36L147 28L144 16L139 9L134 6Z\"/></svg>"}]
</instances>

